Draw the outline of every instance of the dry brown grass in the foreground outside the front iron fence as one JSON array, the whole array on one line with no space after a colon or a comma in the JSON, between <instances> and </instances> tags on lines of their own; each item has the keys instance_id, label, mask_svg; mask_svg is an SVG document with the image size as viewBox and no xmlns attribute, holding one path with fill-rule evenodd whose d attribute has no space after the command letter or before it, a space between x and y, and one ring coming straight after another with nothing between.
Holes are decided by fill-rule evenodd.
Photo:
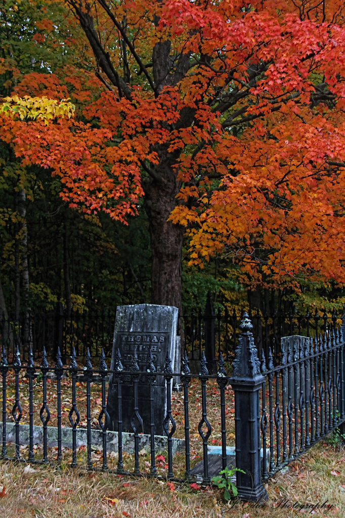
<instances>
[{"instance_id":1,"label":"dry brown grass in the foreground outside the front iron fence","mask_svg":"<svg viewBox=\"0 0 345 518\"><path fill-rule=\"evenodd\" d=\"M82 455L82 452L78 453ZM65 452L65 463L70 452ZM142 461L145 462L144 458ZM310 514L310 510L277 507L282 498L294 502L322 504L334 508L314 511L317 516L345 516L345 449L321 442L267 484L266 505L252 509L235 504L232 509L216 506L221 493L214 488L194 491L189 484L175 483L174 491L162 480L128 479L102 472L85 473L47 466L0 463L1 518L282 518ZM25 472L26 468L26 472ZM332 474L331 472L336 474ZM342 487L344 486L344 488ZM4 495L4 493L6 493Z\"/></svg>"}]
</instances>

